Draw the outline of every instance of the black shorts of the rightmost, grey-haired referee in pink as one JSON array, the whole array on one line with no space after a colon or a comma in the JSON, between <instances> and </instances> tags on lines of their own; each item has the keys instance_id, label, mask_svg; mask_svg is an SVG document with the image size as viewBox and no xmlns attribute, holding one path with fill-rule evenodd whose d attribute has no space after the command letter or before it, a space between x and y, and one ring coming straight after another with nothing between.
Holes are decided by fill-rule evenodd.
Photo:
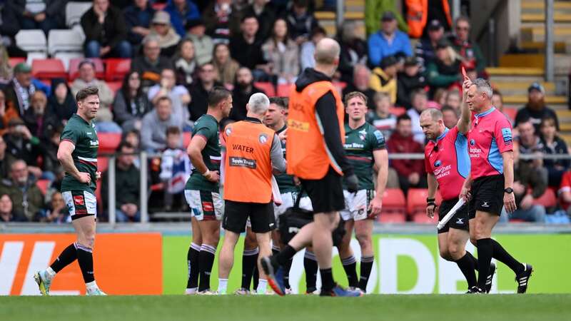
<instances>
[{"instance_id":1,"label":"black shorts of the rightmost, grey-haired referee in pink","mask_svg":"<svg viewBox=\"0 0 571 321\"><path fill-rule=\"evenodd\" d=\"M470 193L470 220L476 217L477 210L500 216L504 206L504 175L476 178Z\"/></svg>"}]
</instances>

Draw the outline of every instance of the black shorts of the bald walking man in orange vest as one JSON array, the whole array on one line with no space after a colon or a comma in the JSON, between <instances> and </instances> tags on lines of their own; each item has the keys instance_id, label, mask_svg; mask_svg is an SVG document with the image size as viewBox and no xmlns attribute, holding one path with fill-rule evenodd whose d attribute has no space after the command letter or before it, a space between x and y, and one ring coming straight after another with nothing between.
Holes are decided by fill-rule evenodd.
<instances>
[{"instance_id":1,"label":"black shorts of the bald walking man in orange vest","mask_svg":"<svg viewBox=\"0 0 571 321\"><path fill-rule=\"evenodd\" d=\"M333 168L320 180L301 180L301 185L308 194L313 213L328 213L343 210L345 197L343 196L343 176Z\"/></svg>"}]
</instances>

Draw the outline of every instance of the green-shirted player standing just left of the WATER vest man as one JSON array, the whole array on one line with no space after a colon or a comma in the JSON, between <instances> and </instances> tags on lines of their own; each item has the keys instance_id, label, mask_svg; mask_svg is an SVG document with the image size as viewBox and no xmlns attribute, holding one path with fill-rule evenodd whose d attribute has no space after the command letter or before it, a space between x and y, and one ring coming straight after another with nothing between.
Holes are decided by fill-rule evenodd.
<instances>
[{"instance_id":1,"label":"green-shirted player standing just left of the WATER vest man","mask_svg":"<svg viewBox=\"0 0 571 321\"><path fill-rule=\"evenodd\" d=\"M214 87L208 93L208 112L194 123L191 143L187 148L194 168L184 191L191 208L193 234L187 253L186 294L213 294L210 275L220 239L224 206L219 184L221 144L218 123L230 115L231 109L231 92L223 87Z\"/></svg>"}]
</instances>

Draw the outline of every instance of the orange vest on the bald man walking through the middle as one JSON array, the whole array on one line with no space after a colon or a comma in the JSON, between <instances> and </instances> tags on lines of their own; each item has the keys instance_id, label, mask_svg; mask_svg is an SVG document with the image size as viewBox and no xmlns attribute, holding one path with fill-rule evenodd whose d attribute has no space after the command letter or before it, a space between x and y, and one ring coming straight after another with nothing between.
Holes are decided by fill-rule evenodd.
<instances>
[{"instance_id":1,"label":"orange vest on the bald man walking through the middle","mask_svg":"<svg viewBox=\"0 0 571 321\"><path fill-rule=\"evenodd\" d=\"M339 122L341 141L345 142L345 111L343 102L330 81L318 81L303 88L300 93L293 88L290 91L288 115L288 139L285 141L288 174L306 180L319 180L325 176L329 167L343 175L341 168L330 155L323 133L315 113L315 103L325 93L331 91L335 97L335 108Z\"/></svg>"}]
</instances>

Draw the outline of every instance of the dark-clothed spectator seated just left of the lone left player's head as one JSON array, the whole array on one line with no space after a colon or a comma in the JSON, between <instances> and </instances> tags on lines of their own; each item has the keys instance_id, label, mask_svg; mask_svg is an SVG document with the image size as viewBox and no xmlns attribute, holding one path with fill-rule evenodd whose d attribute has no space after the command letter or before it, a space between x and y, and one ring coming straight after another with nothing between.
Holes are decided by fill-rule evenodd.
<instances>
[{"instance_id":1,"label":"dark-clothed spectator seated just left of the lone left player's head","mask_svg":"<svg viewBox=\"0 0 571 321\"><path fill-rule=\"evenodd\" d=\"M71 88L64 78L51 80L51 95L48 98L48 114L66 123L77 111L77 103Z\"/></svg>"}]
</instances>

